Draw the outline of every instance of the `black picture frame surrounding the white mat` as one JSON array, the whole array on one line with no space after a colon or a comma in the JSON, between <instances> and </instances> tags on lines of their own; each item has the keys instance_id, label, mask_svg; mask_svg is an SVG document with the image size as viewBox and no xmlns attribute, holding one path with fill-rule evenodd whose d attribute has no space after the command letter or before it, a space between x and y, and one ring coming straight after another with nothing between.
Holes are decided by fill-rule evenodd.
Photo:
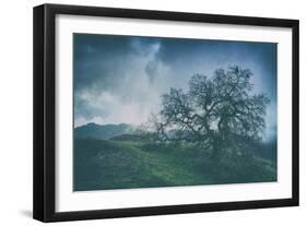
<instances>
[{"instance_id":1,"label":"black picture frame surrounding the white mat","mask_svg":"<svg viewBox=\"0 0 307 226\"><path fill-rule=\"evenodd\" d=\"M292 28L292 198L203 204L56 212L56 81L55 17L57 14L252 25ZM42 222L96 219L160 214L229 211L298 205L298 25L297 20L213 15L166 11L43 4L34 8L34 165L33 217Z\"/></svg>"}]
</instances>

